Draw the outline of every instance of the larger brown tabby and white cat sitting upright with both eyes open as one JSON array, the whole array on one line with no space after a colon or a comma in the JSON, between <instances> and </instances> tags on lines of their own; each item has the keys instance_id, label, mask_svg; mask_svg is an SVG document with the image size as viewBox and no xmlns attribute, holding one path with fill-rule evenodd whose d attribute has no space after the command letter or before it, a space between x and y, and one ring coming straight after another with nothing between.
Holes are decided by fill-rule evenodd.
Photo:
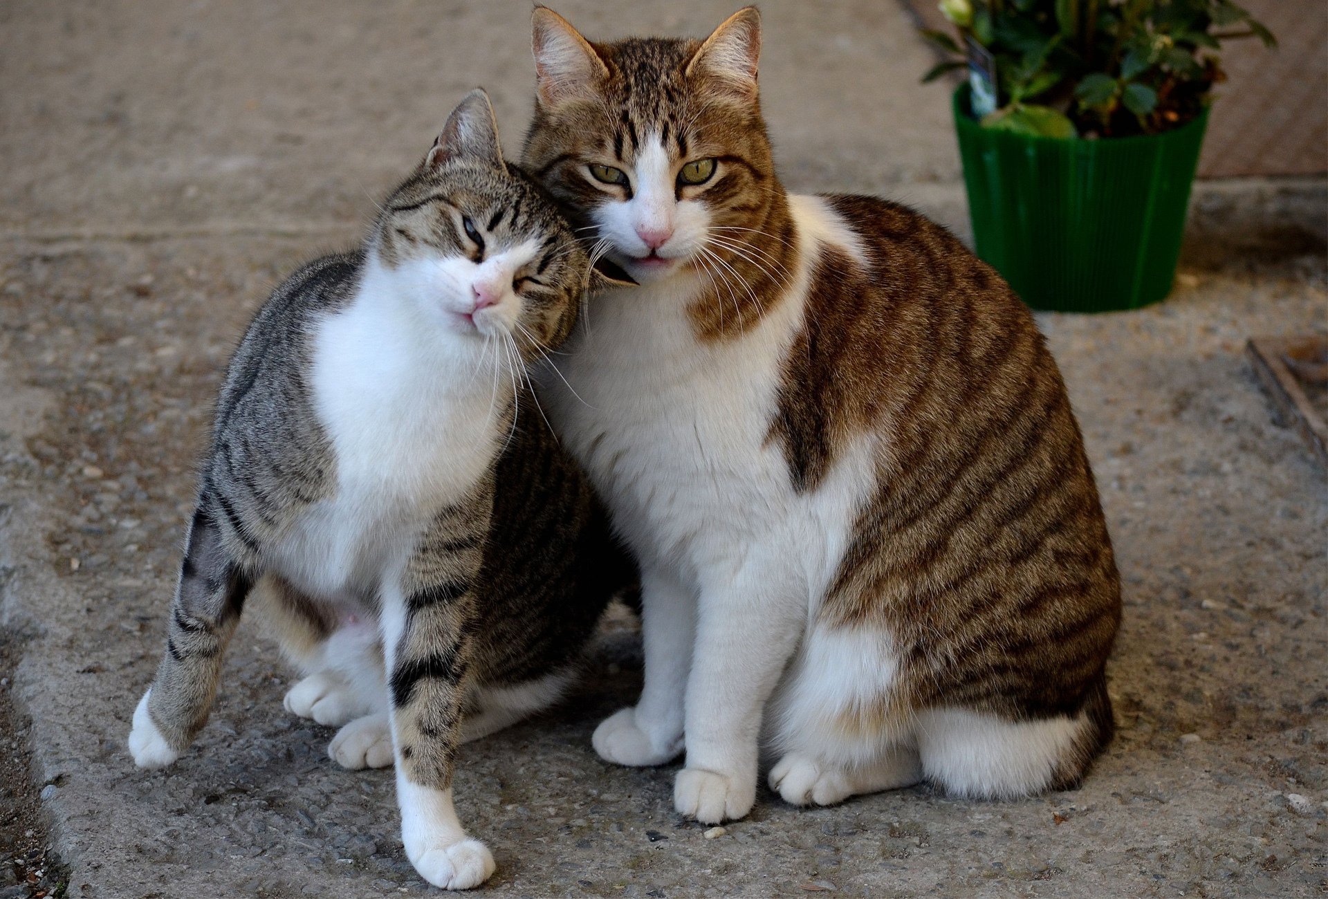
<instances>
[{"instance_id":1,"label":"larger brown tabby and white cat sitting upright with both eyes open","mask_svg":"<svg viewBox=\"0 0 1328 899\"><path fill-rule=\"evenodd\" d=\"M645 684L595 750L685 750L705 823L748 814L762 749L794 805L1073 785L1121 598L1056 363L944 228L785 191L760 46L752 7L602 44L534 11L523 163L640 282L540 376L641 566Z\"/></svg>"}]
</instances>

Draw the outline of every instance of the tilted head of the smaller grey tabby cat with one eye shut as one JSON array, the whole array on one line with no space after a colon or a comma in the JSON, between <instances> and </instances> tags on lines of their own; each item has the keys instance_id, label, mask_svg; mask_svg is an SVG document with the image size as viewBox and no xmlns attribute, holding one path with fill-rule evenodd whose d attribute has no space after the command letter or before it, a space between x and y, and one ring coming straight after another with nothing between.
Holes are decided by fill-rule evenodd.
<instances>
[{"instance_id":1,"label":"tilted head of the smaller grey tabby cat with one eye shut","mask_svg":"<svg viewBox=\"0 0 1328 899\"><path fill-rule=\"evenodd\" d=\"M587 291L629 283L592 268L547 193L503 161L479 89L382 204L372 250L421 327L471 349L510 337L526 363L567 339Z\"/></svg>"}]
</instances>

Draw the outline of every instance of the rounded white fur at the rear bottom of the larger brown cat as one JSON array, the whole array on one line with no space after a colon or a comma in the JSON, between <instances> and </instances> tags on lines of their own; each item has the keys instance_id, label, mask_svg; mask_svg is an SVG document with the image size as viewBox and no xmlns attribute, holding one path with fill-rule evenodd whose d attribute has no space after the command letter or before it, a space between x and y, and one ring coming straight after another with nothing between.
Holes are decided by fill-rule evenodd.
<instances>
[{"instance_id":1,"label":"rounded white fur at the rear bottom of the larger brown cat","mask_svg":"<svg viewBox=\"0 0 1328 899\"><path fill-rule=\"evenodd\" d=\"M923 774L947 793L1013 799L1076 785L1112 738L1112 702L1100 681L1073 716L1012 721L968 709L918 714Z\"/></svg>"}]
</instances>

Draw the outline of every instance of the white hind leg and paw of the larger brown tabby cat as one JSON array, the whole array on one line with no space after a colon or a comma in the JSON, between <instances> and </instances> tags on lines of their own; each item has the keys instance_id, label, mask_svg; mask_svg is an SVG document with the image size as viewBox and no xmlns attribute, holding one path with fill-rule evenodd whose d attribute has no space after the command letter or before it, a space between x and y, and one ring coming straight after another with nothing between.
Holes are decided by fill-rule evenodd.
<instances>
[{"instance_id":1,"label":"white hind leg and paw of the larger brown tabby cat","mask_svg":"<svg viewBox=\"0 0 1328 899\"><path fill-rule=\"evenodd\" d=\"M891 713L898 668L879 628L817 624L772 701L782 754L770 789L793 805L833 805L922 779L911 721Z\"/></svg>"}]
</instances>

